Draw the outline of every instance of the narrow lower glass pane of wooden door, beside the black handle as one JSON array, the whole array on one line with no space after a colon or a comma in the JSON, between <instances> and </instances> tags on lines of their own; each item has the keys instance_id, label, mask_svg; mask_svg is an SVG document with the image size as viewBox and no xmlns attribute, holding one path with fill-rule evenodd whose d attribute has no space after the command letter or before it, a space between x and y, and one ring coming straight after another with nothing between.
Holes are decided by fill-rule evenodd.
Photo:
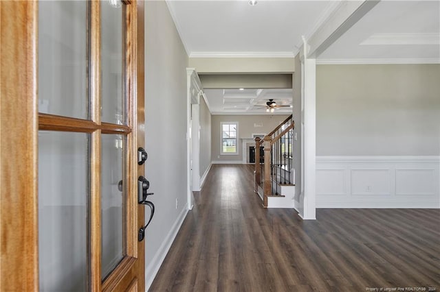
<instances>
[{"instance_id":1,"label":"narrow lower glass pane of wooden door, beside the black handle","mask_svg":"<svg viewBox=\"0 0 440 292\"><path fill-rule=\"evenodd\" d=\"M102 278L113 271L124 256L124 137L102 135Z\"/></svg>"}]
</instances>

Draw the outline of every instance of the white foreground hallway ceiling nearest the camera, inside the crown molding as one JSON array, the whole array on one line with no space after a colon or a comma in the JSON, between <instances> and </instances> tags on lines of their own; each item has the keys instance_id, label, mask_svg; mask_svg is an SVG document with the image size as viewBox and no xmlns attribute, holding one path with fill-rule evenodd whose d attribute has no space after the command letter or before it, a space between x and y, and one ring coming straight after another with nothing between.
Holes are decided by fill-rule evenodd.
<instances>
[{"instance_id":1,"label":"white foreground hallway ceiling nearest the camera, inside the crown molding","mask_svg":"<svg viewBox=\"0 0 440 292\"><path fill-rule=\"evenodd\" d=\"M190 57L225 52L292 56L332 1L167 1Z\"/></svg>"}]
</instances>

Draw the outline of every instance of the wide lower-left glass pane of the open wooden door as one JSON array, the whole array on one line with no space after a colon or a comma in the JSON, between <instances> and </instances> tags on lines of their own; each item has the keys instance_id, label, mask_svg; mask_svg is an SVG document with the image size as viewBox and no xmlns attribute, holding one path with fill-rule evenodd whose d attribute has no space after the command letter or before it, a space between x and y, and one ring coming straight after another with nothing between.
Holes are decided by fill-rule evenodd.
<instances>
[{"instance_id":1,"label":"wide lower-left glass pane of the open wooden door","mask_svg":"<svg viewBox=\"0 0 440 292\"><path fill-rule=\"evenodd\" d=\"M40 291L87 291L88 134L39 132Z\"/></svg>"}]
</instances>

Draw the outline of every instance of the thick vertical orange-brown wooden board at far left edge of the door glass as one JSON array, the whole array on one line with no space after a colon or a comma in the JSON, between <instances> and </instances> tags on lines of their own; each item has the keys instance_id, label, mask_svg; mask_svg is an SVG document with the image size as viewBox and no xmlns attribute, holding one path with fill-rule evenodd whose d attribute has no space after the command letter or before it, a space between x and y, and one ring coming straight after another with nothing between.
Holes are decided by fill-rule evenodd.
<instances>
[{"instance_id":1,"label":"thick vertical orange-brown wooden board at far left edge of the door glass","mask_svg":"<svg viewBox=\"0 0 440 292\"><path fill-rule=\"evenodd\" d=\"M0 291L39 287L37 6L0 1Z\"/></svg>"}]
</instances>

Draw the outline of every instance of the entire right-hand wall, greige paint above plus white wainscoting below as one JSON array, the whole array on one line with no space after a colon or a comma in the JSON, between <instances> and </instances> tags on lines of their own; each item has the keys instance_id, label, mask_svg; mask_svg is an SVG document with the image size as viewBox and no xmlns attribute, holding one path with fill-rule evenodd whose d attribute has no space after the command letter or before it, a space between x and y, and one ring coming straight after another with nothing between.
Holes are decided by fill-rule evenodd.
<instances>
[{"instance_id":1,"label":"entire right-hand wall, greige paint above plus white wainscoting below","mask_svg":"<svg viewBox=\"0 0 440 292\"><path fill-rule=\"evenodd\" d=\"M440 208L440 65L320 65L318 208Z\"/></svg>"}]
</instances>

